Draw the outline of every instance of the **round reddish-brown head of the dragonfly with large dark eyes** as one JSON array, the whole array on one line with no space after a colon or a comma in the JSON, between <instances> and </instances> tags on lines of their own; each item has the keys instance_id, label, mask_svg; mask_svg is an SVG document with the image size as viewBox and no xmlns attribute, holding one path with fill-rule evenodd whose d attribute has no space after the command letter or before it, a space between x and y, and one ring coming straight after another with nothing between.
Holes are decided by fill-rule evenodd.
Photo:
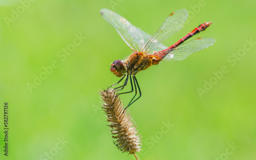
<instances>
[{"instance_id":1,"label":"round reddish-brown head of the dragonfly with large dark eyes","mask_svg":"<svg viewBox=\"0 0 256 160\"><path fill-rule=\"evenodd\" d=\"M122 77L127 73L127 64L122 60L115 60L111 64L110 71L117 77Z\"/></svg>"}]
</instances>

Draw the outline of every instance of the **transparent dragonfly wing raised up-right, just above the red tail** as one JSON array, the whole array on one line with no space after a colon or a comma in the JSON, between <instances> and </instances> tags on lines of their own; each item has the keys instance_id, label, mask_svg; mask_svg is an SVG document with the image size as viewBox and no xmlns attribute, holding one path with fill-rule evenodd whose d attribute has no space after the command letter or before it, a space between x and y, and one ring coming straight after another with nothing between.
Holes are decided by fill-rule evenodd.
<instances>
[{"instance_id":1,"label":"transparent dragonfly wing raised up-right, just above the red tail","mask_svg":"<svg viewBox=\"0 0 256 160\"><path fill-rule=\"evenodd\" d=\"M188 13L186 9L171 13L164 20L159 30L144 42L140 48L140 52L151 53L151 51L153 51L162 41L178 32L183 27L187 15Z\"/></svg>"}]
</instances>

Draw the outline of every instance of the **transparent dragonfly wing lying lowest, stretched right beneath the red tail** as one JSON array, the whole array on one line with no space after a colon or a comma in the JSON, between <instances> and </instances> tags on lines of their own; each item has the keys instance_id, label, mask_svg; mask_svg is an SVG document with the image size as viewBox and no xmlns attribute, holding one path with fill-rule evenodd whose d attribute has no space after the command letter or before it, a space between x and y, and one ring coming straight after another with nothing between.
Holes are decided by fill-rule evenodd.
<instances>
[{"instance_id":1,"label":"transparent dragonfly wing lying lowest, stretched right beneath the red tail","mask_svg":"<svg viewBox=\"0 0 256 160\"><path fill-rule=\"evenodd\" d=\"M189 55L194 52L200 51L202 49L208 48L210 45L213 45L215 42L214 38L197 38L194 40L190 40L188 42L180 44L178 47L174 49L170 49L169 51L163 51L159 54L165 54L169 52L162 61L173 61L178 62L186 59Z\"/></svg>"}]
</instances>

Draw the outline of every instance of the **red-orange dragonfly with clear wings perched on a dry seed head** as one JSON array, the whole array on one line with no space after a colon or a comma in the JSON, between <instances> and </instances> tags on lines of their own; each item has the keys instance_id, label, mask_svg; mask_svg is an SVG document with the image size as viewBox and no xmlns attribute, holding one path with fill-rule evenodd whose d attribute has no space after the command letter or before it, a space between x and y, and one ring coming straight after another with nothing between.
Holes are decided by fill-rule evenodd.
<instances>
[{"instance_id":1,"label":"red-orange dragonfly with clear wings perched on a dry seed head","mask_svg":"<svg viewBox=\"0 0 256 160\"><path fill-rule=\"evenodd\" d=\"M115 60L110 68L110 71L115 76L121 77L117 83L110 87L117 85L126 77L123 85L114 88L114 90L122 90L127 85L129 79L131 82L131 91L119 93L118 95L132 93L135 88L135 95L124 110L142 95L139 83L136 79L137 73L146 70L146 68L152 65L159 64L160 61L182 61L192 53L208 48L215 42L214 38L209 37L186 41L211 25L211 22L205 22L173 45L170 45L170 47L166 47L162 43L165 39L178 32L184 26L184 22L188 16L186 9L177 10L169 14L158 31L153 35L147 34L140 28L133 26L128 20L111 10L101 9L100 13L102 17L114 27L123 41L132 50L132 54L128 58L124 60ZM139 96L135 99L137 88L139 90Z\"/></svg>"}]
</instances>

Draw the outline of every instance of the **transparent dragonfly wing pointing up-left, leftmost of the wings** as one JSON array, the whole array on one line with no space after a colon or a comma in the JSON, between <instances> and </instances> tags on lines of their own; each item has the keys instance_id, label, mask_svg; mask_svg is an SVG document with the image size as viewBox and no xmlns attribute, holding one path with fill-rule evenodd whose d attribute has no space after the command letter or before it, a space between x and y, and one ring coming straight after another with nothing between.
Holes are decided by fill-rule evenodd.
<instances>
[{"instance_id":1,"label":"transparent dragonfly wing pointing up-left, leftmost of the wings","mask_svg":"<svg viewBox=\"0 0 256 160\"><path fill-rule=\"evenodd\" d=\"M143 36L138 29L133 26L128 20L120 16L119 14L108 10L101 9L100 13L102 17L114 27L117 33L121 36L123 41L133 50L139 51L144 43Z\"/></svg>"}]
</instances>

